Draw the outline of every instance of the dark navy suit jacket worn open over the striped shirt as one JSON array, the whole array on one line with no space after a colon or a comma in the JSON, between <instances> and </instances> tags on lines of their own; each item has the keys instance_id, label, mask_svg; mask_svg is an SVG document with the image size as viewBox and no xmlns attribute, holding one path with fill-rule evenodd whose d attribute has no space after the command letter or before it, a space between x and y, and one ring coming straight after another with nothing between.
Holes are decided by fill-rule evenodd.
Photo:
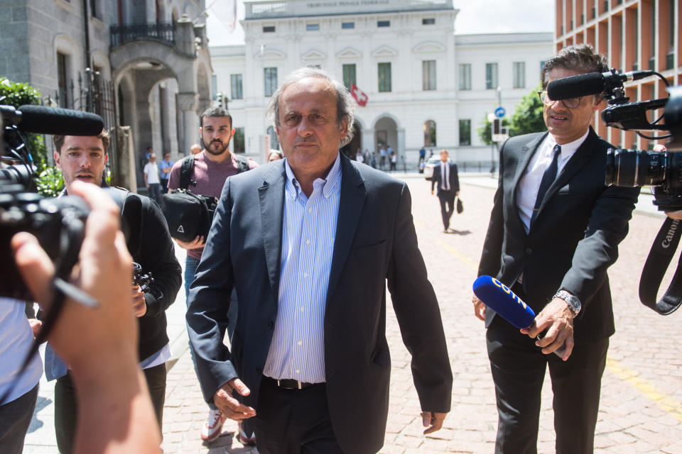
<instances>
[{"instance_id":1,"label":"dark navy suit jacket worn open over the striped shirt","mask_svg":"<svg viewBox=\"0 0 682 454\"><path fill-rule=\"evenodd\" d=\"M227 179L190 290L190 341L207 401L240 377L257 409L276 323L284 160ZM404 182L341 157L341 195L325 309L325 375L332 426L347 453L384 441L391 362L385 337L386 281L412 354L422 409L449 411L452 372L438 302L417 248ZM223 343L229 294L239 317Z\"/></svg>"}]
</instances>

